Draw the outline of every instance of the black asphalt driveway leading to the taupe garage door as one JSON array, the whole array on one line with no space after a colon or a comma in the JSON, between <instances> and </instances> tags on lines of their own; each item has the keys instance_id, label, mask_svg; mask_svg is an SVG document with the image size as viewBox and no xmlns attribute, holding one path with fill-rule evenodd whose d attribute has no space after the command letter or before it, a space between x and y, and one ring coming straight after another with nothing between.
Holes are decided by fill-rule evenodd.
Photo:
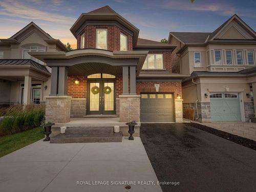
<instances>
[{"instance_id":1,"label":"black asphalt driveway leading to the taupe garage door","mask_svg":"<svg viewBox=\"0 0 256 192\"><path fill-rule=\"evenodd\" d=\"M142 124L141 140L167 191L254 191L256 151L183 123Z\"/></svg>"}]
</instances>

